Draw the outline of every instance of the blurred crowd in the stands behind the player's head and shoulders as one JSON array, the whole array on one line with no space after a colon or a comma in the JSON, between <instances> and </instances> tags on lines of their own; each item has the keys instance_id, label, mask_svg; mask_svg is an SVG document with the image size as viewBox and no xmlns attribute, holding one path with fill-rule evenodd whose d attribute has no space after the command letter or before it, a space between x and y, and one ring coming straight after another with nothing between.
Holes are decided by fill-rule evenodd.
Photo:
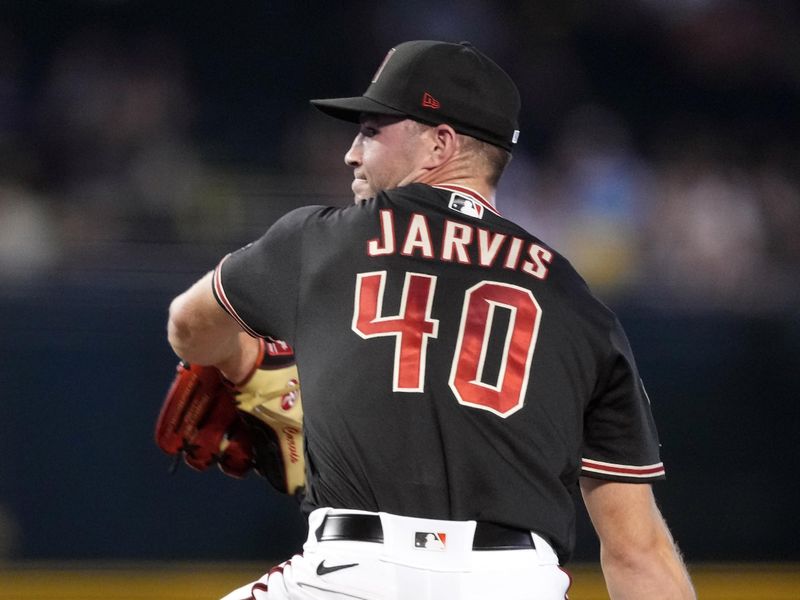
<instances>
[{"instance_id":1,"label":"blurred crowd in the stands behind the player's head and shoulders","mask_svg":"<svg viewBox=\"0 0 800 600\"><path fill-rule=\"evenodd\" d=\"M501 212L576 264L601 297L796 311L800 14L792 3L631 0L600 12L587 7L606 3L520 2L512 11L470 0L458 18L418 1L365 3L362 37L337 47L352 60L326 79L319 67L297 73L317 56L309 49L296 60L282 55L285 79L268 83L258 71L270 55L231 50L236 90L251 85L240 81L251 69L261 106L231 97L216 85L224 77L202 76L209 60L233 67L198 53L206 40L191 31L103 18L124 17L120 7L135 3L78 4L92 6L86 20L51 24L45 41L26 35L39 16L30 10L11 11L27 24L0 21L3 293L115 271L144 273L144 282L170 265L186 268L176 252L208 268L220 248L249 241L296 205L348 202L341 157L352 131L299 99L361 90L364 74L403 39L469 37L523 94ZM250 27L269 28L269 16ZM279 115L268 135L231 134L246 134L251 119L265 123L261 111Z\"/></svg>"}]
</instances>

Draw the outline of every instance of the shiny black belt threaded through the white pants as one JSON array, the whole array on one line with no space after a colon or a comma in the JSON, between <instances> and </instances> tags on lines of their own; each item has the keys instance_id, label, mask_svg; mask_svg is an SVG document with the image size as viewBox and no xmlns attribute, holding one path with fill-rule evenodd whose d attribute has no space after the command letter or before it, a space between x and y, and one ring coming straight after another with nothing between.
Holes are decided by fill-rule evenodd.
<instances>
[{"instance_id":1,"label":"shiny black belt threaded through the white pants","mask_svg":"<svg viewBox=\"0 0 800 600\"><path fill-rule=\"evenodd\" d=\"M317 529L320 542L351 541L383 543L383 527L378 515L329 514ZM472 539L473 550L535 550L531 532L478 521Z\"/></svg>"}]
</instances>

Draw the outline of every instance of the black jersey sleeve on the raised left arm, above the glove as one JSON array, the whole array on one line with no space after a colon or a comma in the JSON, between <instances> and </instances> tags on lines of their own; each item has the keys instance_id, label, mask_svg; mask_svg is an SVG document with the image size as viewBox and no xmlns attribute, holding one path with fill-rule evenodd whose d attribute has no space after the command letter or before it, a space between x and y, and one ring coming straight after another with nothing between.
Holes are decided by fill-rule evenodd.
<instances>
[{"instance_id":1,"label":"black jersey sleeve on the raised left arm, above the glove","mask_svg":"<svg viewBox=\"0 0 800 600\"><path fill-rule=\"evenodd\" d=\"M286 214L257 241L228 254L217 265L214 297L250 335L293 343L304 226L321 208Z\"/></svg>"}]
</instances>

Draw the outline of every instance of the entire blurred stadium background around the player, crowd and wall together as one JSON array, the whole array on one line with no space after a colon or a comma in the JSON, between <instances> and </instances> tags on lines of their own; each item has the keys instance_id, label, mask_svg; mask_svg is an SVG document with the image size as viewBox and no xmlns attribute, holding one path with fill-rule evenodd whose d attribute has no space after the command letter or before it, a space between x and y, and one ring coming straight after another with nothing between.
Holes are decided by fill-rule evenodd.
<instances>
[{"instance_id":1,"label":"entire blurred stadium background around the player, crowd and wall together","mask_svg":"<svg viewBox=\"0 0 800 600\"><path fill-rule=\"evenodd\" d=\"M701 597L800 598L799 33L770 0L2 0L0 598L214 598L299 547L263 481L167 474L166 307L350 201L353 130L307 100L420 38L517 80L499 208L626 326Z\"/></svg>"}]
</instances>

